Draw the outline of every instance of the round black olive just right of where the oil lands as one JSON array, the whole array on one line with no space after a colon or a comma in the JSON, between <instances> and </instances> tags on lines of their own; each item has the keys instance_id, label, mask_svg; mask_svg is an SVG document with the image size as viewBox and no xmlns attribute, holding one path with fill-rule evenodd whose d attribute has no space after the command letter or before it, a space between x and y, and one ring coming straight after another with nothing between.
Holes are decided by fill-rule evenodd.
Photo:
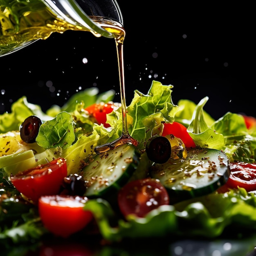
<instances>
[{"instance_id":1,"label":"round black olive just right of where the oil lands","mask_svg":"<svg viewBox=\"0 0 256 256\"><path fill-rule=\"evenodd\" d=\"M151 161L163 164L171 157L171 143L166 137L155 137L148 141L146 153Z\"/></svg>"}]
</instances>

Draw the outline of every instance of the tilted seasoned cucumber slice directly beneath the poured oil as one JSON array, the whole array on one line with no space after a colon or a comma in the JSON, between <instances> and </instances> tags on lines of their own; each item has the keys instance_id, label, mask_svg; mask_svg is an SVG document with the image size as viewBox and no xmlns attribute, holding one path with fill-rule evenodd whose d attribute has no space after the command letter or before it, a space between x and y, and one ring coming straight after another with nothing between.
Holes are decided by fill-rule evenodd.
<instances>
[{"instance_id":1,"label":"tilted seasoned cucumber slice directly beneath the poured oil","mask_svg":"<svg viewBox=\"0 0 256 256\"><path fill-rule=\"evenodd\" d=\"M94 161L83 168L87 182L85 196L106 198L128 182L139 163L139 151L131 144L96 155Z\"/></svg>"}]
</instances>

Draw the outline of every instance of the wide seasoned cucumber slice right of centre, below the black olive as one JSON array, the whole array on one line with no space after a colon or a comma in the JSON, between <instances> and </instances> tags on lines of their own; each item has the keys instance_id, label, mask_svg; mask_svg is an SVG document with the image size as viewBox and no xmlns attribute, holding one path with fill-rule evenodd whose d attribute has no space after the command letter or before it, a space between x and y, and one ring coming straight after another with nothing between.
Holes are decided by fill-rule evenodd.
<instances>
[{"instance_id":1,"label":"wide seasoned cucumber slice right of centre, below the black olive","mask_svg":"<svg viewBox=\"0 0 256 256\"><path fill-rule=\"evenodd\" d=\"M230 169L225 153L210 148L191 148L187 153L186 159L169 159L150 167L150 176L160 180L170 199L206 195L227 182Z\"/></svg>"}]
</instances>

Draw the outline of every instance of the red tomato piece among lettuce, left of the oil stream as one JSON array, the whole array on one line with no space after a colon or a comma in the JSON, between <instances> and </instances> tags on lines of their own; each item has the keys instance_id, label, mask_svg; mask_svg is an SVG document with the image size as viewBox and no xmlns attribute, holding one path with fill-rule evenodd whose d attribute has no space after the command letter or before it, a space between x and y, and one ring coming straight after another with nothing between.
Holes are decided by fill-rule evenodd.
<instances>
[{"instance_id":1,"label":"red tomato piece among lettuce, left of the oil stream","mask_svg":"<svg viewBox=\"0 0 256 256\"><path fill-rule=\"evenodd\" d=\"M111 113L113 110L117 110L120 107L120 103L95 103L91 106L85 108L93 117L95 117L98 124L103 124L106 128L110 127L109 124L106 124L107 114Z\"/></svg>"}]
</instances>

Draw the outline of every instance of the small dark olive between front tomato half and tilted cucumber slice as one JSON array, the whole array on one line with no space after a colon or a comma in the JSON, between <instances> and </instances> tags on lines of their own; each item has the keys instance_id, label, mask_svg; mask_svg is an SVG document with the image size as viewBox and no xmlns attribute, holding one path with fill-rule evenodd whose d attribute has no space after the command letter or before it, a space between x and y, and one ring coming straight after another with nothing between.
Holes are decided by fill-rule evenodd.
<instances>
[{"instance_id":1,"label":"small dark olive between front tomato half and tilted cucumber slice","mask_svg":"<svg viewBox=\"0 0 256 256\"><path fill-rule=\"evenodd\" d=\"M67 195L83 196L86 191L86 183L83 176L78 174L70 174L64 178L63 188Z\"/></svg>"}]
</instances>

